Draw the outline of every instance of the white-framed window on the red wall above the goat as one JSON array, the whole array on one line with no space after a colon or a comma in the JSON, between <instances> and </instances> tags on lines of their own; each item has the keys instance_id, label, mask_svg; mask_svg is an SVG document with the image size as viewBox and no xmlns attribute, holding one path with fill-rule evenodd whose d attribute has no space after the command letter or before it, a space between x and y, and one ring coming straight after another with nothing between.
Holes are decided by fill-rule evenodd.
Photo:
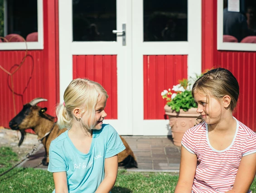
<instances>
[{"instance_id":1,"label":"white-framed window on the red wall above the goat","mask_svg":"<svg viewBox=\"0 0 256 193\"><path fill-rule=\"evenodd\" d=\"M43 0L0 0L0 50L43 49Z\"/></svg>"}]
</instances>

